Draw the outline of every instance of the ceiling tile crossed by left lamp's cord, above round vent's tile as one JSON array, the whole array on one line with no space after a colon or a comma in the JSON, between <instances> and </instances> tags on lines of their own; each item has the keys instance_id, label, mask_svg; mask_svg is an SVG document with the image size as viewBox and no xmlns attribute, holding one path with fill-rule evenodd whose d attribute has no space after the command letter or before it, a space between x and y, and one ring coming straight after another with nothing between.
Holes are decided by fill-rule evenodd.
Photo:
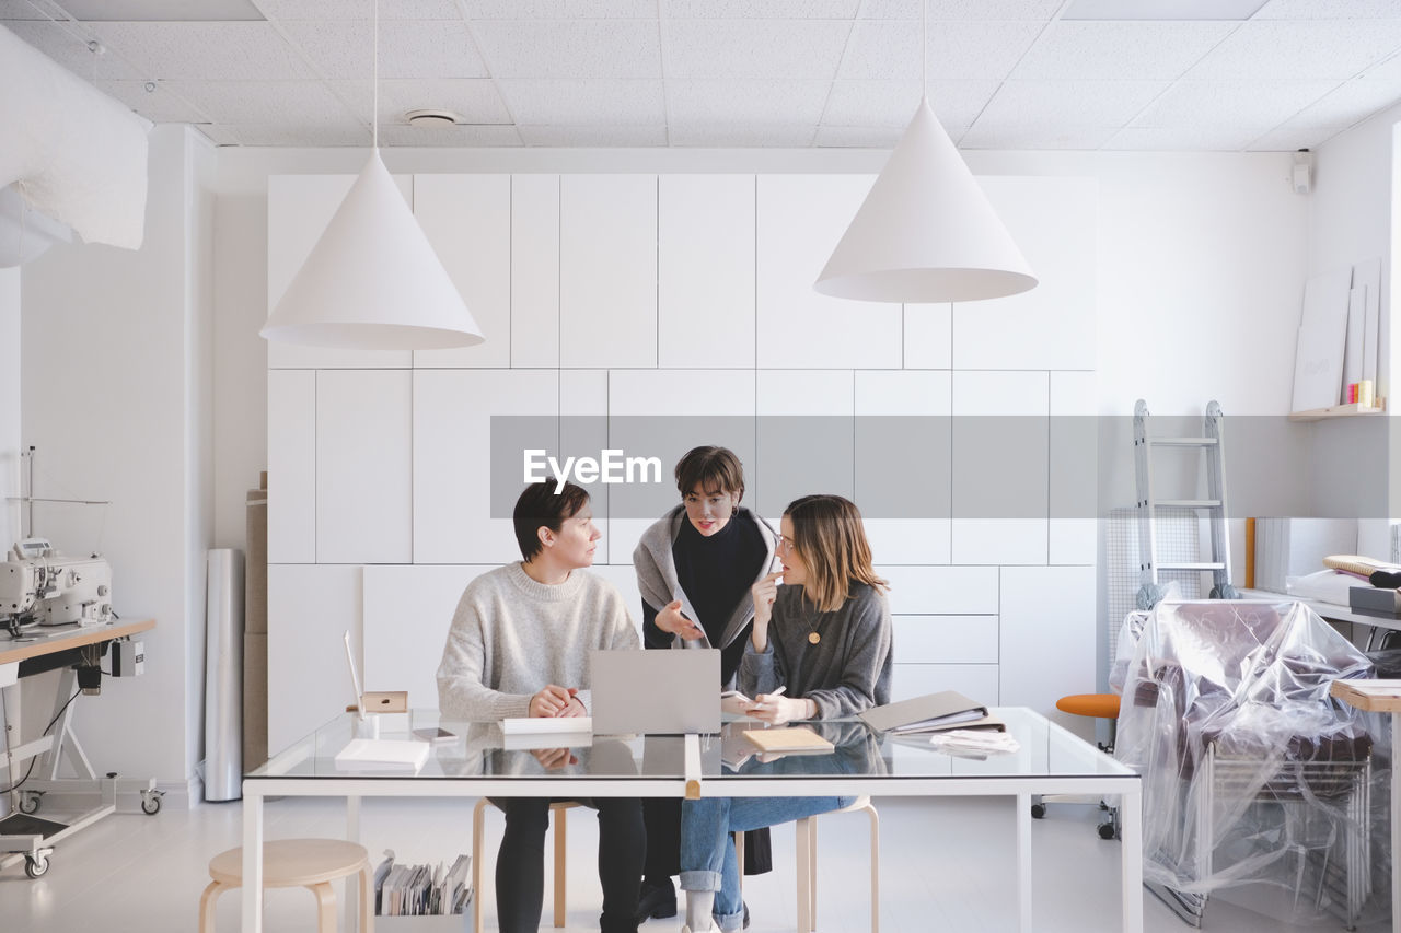
<instances>
[{"instance_id":1,"label":"ceiling tile crossed by left lamp's cord, above round vent's tile","mask_svg":"<svg viewBox=\"0 0 1401 933\"><path fill-rule=\"evenodd\" d=\"M282 24L322 77L368 78L374 64L373 27L364 20ZM457 20L399 20L380 24L381 78L486 77L467 25Z\"/></svg>"}]
</instances>

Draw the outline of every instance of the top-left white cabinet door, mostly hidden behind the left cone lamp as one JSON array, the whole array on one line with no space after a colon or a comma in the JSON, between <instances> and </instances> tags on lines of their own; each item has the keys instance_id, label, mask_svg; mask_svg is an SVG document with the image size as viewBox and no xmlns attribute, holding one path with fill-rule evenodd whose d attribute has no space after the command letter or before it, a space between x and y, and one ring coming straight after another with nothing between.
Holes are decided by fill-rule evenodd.
<instances>
[{"instance_id":1,"label":"top-left white cabinet door, mostly hidden behind the left cone lamp","mask_svg":"<svg viewBox=\"0 0 1401 933\"><path fill-rule=\"evenodd\" d=\"M272 175L268 179L268 312L301 270L326 224L340 207L354 175ZM395 175L403 200L413 200L413 179ZM347 368L408 367L408 350L328 350L315 346L268 342L268 367Z\"/></svg>"}]
</instances>

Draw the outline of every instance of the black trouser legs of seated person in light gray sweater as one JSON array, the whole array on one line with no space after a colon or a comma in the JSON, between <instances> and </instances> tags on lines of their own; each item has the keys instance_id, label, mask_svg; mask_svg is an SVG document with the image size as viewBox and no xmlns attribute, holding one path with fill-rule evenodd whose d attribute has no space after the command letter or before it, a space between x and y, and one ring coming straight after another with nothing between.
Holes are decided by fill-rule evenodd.
<instances>
[{"instance_id":1,"label":"black trouser legs of seated person in light gray sweater","mask_svg":"<svg viewBox=\"0 0 1401 933\"><path fill-rule=\"evenodd\" d=\"M496 913L502 933L539 930L545 898L545 829L549 799L492 800L506 813L506 835L496 856ZM637 890L646 857L647 834L642 801L597 797L579 803L598 811L598 881L604 890L602 933L637 933Z\"/></svg>"}]
</instances>

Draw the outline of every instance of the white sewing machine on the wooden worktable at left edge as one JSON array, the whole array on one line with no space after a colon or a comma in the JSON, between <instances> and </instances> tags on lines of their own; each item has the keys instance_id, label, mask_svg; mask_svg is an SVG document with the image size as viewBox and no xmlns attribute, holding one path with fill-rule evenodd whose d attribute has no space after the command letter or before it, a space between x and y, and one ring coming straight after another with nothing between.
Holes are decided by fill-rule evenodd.
<instances>
[{"instance_id":1,"label":"white sewing machine on the wooden worktable at left edge","mask_svg":"<svg viewBox=\"0 0 1401 933\"><path fill-rule=\"evenodd\" d=\"M69 558L42 538L29 538L0 563L0 625L11 636L32 625L111 621L112 567L98 555Z\"/></svg>"}]
</instances>

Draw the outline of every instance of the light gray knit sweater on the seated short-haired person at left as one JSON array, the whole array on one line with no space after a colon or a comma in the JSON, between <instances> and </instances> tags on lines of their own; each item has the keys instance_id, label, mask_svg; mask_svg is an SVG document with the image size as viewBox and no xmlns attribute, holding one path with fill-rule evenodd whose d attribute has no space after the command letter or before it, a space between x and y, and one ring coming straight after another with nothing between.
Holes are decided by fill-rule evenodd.
<instances>
[{"instance_id":1,"label":"light gray knit sweater on the seated short-haired person at left","mask_svg":"<svg viewBox=\"0 0 1401 933\"><path fill-rule=\"evenodd\" d=\"M528 716L546 684L579 688L593 709L591 649L640 649L618 588L584 570L559 584L537 583L521 565L467 584L439 664L439 710L446 720Z\"/></svg>"}]
</instances>

